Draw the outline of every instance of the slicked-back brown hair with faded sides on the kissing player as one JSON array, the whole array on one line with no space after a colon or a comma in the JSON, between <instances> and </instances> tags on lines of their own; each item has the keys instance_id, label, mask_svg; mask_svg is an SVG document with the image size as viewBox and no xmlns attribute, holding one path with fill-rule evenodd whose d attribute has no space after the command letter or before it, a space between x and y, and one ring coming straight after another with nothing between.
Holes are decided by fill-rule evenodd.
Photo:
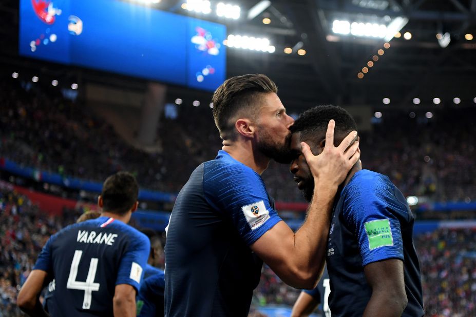
<instances>
[{"instance_id":1,"label":"slicked-back brown hair with faded sides on the kissing player","mask_svg":"<svg viewBox=\"0 0 476 317\"><path fill-rule=\"evenodd\" d=\"M277 93L276 84L266 75L247 74L227 79L212 97L213 118L223 140L236 137L235 116L239 113L256 115L257 103L263 93Z\"/></svg>"}]
</instances>

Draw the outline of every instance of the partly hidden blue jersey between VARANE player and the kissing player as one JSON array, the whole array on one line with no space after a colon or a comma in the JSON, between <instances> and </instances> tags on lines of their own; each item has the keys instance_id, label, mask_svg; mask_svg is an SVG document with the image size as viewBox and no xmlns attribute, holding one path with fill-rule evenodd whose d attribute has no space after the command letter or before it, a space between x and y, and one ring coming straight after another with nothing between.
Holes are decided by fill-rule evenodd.
<instances>
[{"instance_id":1,"label":"partly hidden blue jersey between VARANE player and the kissing player","mask_svg":"<svg viewBox=\"0 0 476 317\"><path fill-rule=\"evenodd\" d=\"M158 270L144 278L137 298L138 317L164 316L164 289L164 271Z\"/></svg>"}]
</instances>

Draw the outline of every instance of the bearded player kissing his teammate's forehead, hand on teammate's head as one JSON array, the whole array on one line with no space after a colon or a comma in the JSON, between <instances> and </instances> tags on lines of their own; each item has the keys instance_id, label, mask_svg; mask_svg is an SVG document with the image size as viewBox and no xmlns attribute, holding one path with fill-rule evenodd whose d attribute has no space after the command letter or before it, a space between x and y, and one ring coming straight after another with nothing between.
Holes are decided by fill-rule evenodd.
<instances>
[{"instance_id":1,"label":"bearded player kissing his teammate's forehead, hand on teammate's head","mask_svg":"<svg viewBox=\"0 0 476 317\"><path fill-rule=\"evenodd\" d=\"M165 244L166 316L246 316L262 261L289 285L313 288L322 272L338 185L358 161L356 132L314 157L316 186L307 221L281 221L260 174L289 163L293 119L261 74L226 80L213 95L222 150L202 163L177 196ZM350 147L349 147L350 146Z\"/></svg>"}]
</instances>

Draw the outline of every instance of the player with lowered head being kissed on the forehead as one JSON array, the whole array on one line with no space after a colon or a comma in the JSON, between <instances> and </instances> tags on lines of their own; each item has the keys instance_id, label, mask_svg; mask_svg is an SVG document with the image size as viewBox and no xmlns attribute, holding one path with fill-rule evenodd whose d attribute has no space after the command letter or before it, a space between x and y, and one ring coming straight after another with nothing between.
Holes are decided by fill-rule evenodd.
<instances>
[{"instance_id":1,"label":"player with lowered head being kissed on the forehead","mask_svg":"<svg viewBox=\"0 0 476 317\"><path fill-rule=\"evenodd\" d=\"M291 128L294 160L290 170L304 197L317 182L308 165L312 153L326 151L326 125L335 120L335 142L356 130L352 116L335 106L307 110ZM413 245L413 214L402 193L385 175L357 162L339 186L331 215L327 269L332 316L423 316L420 265Z\"/></svg>"}]
</instances>

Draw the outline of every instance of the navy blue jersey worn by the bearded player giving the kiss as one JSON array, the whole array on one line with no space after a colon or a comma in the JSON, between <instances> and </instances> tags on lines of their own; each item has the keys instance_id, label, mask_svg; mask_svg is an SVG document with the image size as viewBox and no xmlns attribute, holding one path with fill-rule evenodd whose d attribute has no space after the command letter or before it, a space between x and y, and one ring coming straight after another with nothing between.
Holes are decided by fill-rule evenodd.
<instances>
[{"instance_id":1,"label":"navy blue jersey worn by the bearded player giving the kiss","mask_svg":"<svg viewBox=\"0 0 476 317\"><path fill-rule=\"evenodd\" d=\"M246 316L262 261L250 245L281 219L261 176L219 151L180 191L165 244L166 316Z\"/></svg>"}]
</instances>

